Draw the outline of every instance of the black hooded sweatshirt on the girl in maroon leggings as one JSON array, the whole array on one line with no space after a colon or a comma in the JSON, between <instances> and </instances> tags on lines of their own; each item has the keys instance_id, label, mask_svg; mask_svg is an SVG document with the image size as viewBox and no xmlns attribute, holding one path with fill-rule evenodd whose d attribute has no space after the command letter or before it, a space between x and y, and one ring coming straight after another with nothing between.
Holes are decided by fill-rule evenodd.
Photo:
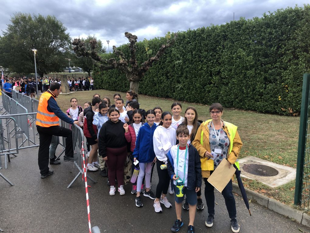
<instances>
[{"instance_id":1,"label":"black hooded sweatshirt on the girl in maroon leggings","mask_svg":"<svg viewBox=\"0 0 310 233\"><path fill-rule=\"evenodd\" d=\"M107 147L121 148L127 145L123 125L124 123L121 120L118 120L116 123L108 120L102 125L98 137L98 152L102 158L107 156Z\"/></svg>"}]
</instances>

